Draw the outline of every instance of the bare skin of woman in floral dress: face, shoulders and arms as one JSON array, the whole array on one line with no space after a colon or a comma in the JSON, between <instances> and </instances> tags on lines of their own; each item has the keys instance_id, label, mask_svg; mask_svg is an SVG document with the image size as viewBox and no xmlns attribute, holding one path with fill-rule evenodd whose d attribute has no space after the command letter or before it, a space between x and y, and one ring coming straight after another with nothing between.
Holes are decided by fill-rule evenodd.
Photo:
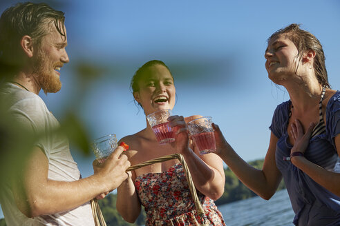
<instances>
[{"instance_id":1,"label":"bare skin of woman in floral dress: face, shoulders and arms","mask_svg":"<svg viewBox=\"0 0 340 226\"><path fill-rule=\"evenodd\" d=\"M133 94L135 100L142 105L146 115L157 110L173 109L176 88L169 70L163 65L153 65L148 72L147 79L139 84L139 91ZM171 116L169 122L176 131L176 141L171 144L160 145L147 121L144 130L122 138L121 141L129 143L130 150L125 154L129 156L131 165L167 154L182 154L196 189L210 198L219 198L223 194L225 183L222 160L216 154L200 156L191 150L185 119L182 116ZM164 172L178 162L173 159L129 172L129 178L117 189L117 210L124 220L133 223L140 214L141 204L135 191L135 178L142 174Z\"/></svg>"}]
</instances>

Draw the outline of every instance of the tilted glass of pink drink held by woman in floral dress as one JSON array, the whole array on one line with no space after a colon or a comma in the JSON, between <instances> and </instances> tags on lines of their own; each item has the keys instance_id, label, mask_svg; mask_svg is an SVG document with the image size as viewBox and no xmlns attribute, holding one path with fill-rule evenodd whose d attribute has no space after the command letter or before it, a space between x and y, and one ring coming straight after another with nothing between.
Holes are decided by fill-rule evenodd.
<instances>
[{"instance_id":1,"label":"tilted glass of pink drink held by woman in floral dress","mask_svg":"<svg viewBox=\"0 0 340 226\"><path fill-rule=\"evenodd\" d=\"M172 131L168 121L169 116L171 116L171 109L159 110L147 115L149 124L160 144L175 141L175 133Z\"/></svg>"}]
</instances>

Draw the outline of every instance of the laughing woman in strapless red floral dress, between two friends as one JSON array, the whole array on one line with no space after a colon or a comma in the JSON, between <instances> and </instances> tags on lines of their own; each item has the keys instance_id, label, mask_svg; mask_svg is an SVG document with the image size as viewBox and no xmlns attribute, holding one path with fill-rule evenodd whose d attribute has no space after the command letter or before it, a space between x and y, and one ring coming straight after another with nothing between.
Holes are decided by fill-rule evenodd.
<instances>
[{"instance_id":1,"label":"laughing woman in strapless red floral dress, between two friends","mask_svg":"<svg viewBox=\"0 0 340 226\"><path fill-rule=\"evenodd\" d=\"M131 81L135 101L148 115L157 110L173 109L176 89L173 76L162 61L149 61L135 72ZM131 165L168 154L182 154L187 162L198 197L205 210L207 225L225 225L213 200L224 192L223 162L216 154L200 156L189 148L185 120L169 118L178 130L174 145L160 145L149 123L140 132L122 138L129 143L126 152ZM180 162L170 160L129 172L129 178L117 189L117 210L124 220L133 223L144 205L146 225L200 225L187 179Z\"/></svg>"}]
</instances>

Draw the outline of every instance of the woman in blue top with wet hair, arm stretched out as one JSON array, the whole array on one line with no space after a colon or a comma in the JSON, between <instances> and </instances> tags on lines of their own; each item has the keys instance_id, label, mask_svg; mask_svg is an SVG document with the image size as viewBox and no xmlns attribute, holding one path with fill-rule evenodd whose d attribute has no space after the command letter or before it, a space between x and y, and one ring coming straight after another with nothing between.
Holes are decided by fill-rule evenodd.
<instances>
[{"instance_id":1,"label":"woman in blue top with wet hair, arm stretched out","mask_svg":"<svg viewBox=\"0 0 340 226\"><path fill-rule=\"evenodd\" d=\"M262 170L247 165L214 125L216 154L262 198L283 177L295 225L340 225L340 92L330 89L322 46L291 24L268 39L265 59L269 78L290 100L276 107Z\"/></svg>"}]
</instances>

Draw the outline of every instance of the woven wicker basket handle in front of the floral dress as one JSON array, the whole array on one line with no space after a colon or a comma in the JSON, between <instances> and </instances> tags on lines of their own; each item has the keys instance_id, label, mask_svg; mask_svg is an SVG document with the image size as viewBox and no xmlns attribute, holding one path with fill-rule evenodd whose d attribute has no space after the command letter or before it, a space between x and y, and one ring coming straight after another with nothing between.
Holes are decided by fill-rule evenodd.
<instances>
[{"instance_id":1,"label":"woven wicker basket handle in front of the floral dress","mask_svg":"<svg viewBox=\"0 0 340 226\"><path fill-rule=\"evenodd\" d=\"M144 163L133 165L133 166L127 168L126 171L136 170L136 169L139 169L139 168L147 166L147 165L152 165L154 163L162 163L164 161L168 161L168 160L174 159L174 158L178 158L180 163L182 163L183 170L185 172L185 176L187 178L187 182L188 182L189 189L190 189L190 192L191 192L191 197L193 198L193 201L195 203L196 212L201 218L203 218L205 220L205 218L204 218L205 212L202 209L202 205L200 204L200 200L198 199L196 188L195 188L195 185L193 185L193 181L192 181L192 178L191 178L189 168L188 168L187 163L185 162L185 159L183 158L182 154L169 154L169 155L166 155L166 156L162 156L160 158L154 158L154 159L151 159L151 160L146 161Z\"/></svg>"}]
</instances>

